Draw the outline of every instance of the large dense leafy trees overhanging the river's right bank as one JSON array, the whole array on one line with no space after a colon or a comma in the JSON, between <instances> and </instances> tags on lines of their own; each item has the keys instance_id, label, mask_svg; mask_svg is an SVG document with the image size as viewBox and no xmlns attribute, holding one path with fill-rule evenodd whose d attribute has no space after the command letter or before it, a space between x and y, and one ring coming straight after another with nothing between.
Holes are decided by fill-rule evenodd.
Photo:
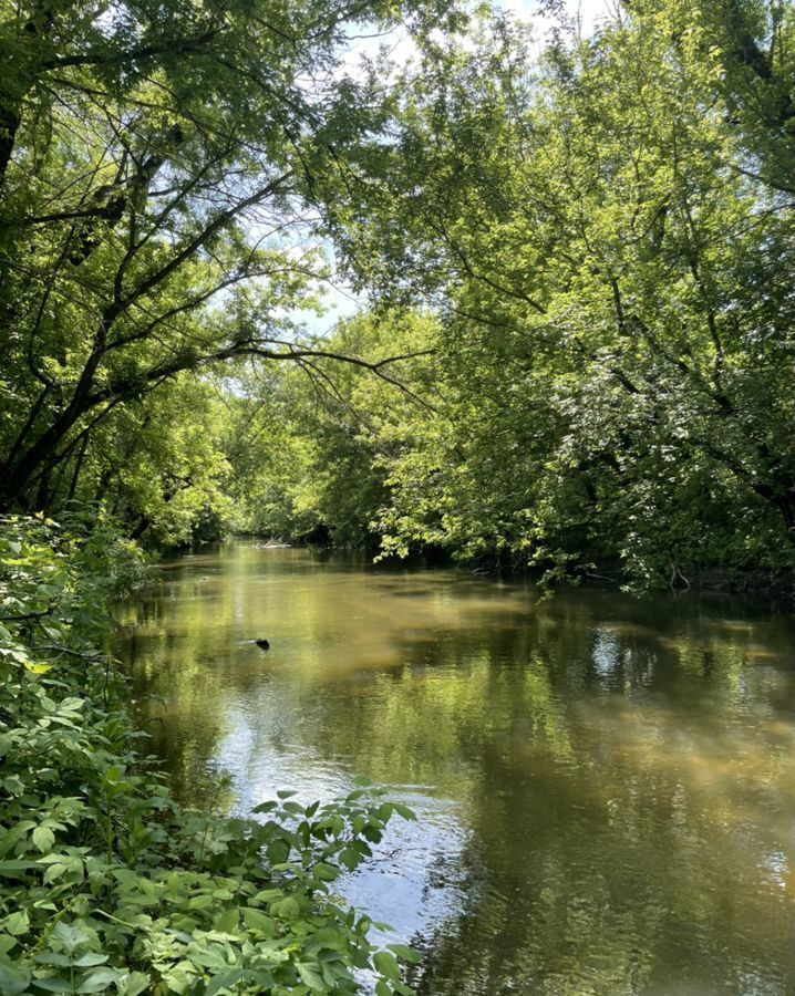
<instances>
[{"instance_id":1,"label":"large dense leafy trees overhanging the river's right bank","mask_svg":"<svg viewBox=\"0 0 795 996\"><path fill-rule=\"evenodd\" d=\"M740 0L628 3L540 62L504 19L426 48L331 218L444 317L454 429L398 468L389 542L791 564L794 64L792 8Z\"/></svg>"}]
</instances>

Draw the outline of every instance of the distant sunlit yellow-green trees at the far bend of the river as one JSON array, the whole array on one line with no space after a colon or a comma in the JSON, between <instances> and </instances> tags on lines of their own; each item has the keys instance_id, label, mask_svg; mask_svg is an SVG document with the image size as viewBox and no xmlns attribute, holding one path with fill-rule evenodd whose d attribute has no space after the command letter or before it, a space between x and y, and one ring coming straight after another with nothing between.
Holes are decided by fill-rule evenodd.
<instances>
[{"instance_id":1,"label":"distant sunlit yellow-green trees at the far bend of the river","mask_svg":"<svg viewBox=\"0 0 795 996\"><path fill-rule=\"evenodd\" d=\"M361 314L334 330L327 359L270 369L228 396L226 452L240 525L283 537L326 537L372 547L375 520L389 505L399 455L413 452L435 398L436 322L411 312ZM398 352L400 363L389 361ZM400 376L400 388L391 383ZM374 543L375 540L375 543Z\"/></svg>"}]
</instances>

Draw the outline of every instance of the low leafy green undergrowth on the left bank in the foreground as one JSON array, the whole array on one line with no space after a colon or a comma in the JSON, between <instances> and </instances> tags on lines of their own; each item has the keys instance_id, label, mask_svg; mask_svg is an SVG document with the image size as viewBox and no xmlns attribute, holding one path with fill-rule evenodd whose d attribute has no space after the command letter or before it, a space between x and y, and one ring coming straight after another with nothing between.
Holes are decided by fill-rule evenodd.
<instances>
[{"instance_id":1,"label":"low leafy green undergrowth on the left bank in the foreground","mask_svg":"<svg viewBox=\"0 0 795 996\"><path fill-rule=\"evenodd\" d=\"M362 788L323 807L279 792L249 819L184 811L136 749L96 646L140 571L109 526L2 522L0 988L353 993L371 971L379 993L411 992L333 895L407 810Z\"/></svg>"}]
</instances>

